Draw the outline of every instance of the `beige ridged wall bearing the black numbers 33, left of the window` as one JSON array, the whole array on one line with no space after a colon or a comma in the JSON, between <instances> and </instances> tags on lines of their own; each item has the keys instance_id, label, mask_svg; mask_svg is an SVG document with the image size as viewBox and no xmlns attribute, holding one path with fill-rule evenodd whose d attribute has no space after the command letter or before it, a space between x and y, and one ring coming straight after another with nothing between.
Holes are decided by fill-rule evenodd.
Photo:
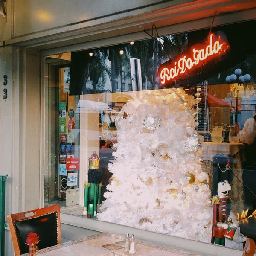
<instances>
[{"instance_id":1,"label":"beige ridged wall bearing the black numbers 33, left of the window","mask_svg":"<svg viewBox=\"0 0 256 256\"><path fill-rule=\"evenodd\" d=\"M1 80L0 175L6 181L6 214L41 206L40 165L41 93L38 52L19 47L0 48ZM3 90L7 97L3 99ZM6 232L6 255L12 241Z\"/></svg>"}]
</instances>

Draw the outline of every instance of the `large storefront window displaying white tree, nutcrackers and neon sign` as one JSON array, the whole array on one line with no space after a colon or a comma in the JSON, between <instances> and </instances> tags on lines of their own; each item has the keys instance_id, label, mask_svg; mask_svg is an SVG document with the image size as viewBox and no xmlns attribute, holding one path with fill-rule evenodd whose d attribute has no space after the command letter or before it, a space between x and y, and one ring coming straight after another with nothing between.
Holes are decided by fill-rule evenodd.
<instances>
[{"instance_id":1,"label":"large storefront window displaying white tree, nutcrackers and neon sign","mask_svg":"<svg viewBox=\"0 0 256 256\"><path fill-rule=\"evenodd\" d=\"M243 25L47 56L45 204L222 245L230 233L212 225L232 218L250 236L256 53L231 36Z\"/></svg>"}]
</instances>

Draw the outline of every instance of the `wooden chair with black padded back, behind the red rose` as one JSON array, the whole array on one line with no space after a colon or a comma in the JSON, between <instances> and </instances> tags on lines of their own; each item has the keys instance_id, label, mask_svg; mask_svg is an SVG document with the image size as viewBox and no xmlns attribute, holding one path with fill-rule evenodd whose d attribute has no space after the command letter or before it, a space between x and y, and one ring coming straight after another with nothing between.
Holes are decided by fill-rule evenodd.
<instances>
[{"instance_id":1,"label":"wooden chair with black padded back, behind the red rose","mask_svg":"<svg viewBox=\"0 0 256 256\"><path fill-rule=\"evenodd\" d=\"M29 232L39 236L38 249L61 244L60 206L35 209L7 215L15 256L28 253L26 238Z\"/></svg>"}]
</instances>

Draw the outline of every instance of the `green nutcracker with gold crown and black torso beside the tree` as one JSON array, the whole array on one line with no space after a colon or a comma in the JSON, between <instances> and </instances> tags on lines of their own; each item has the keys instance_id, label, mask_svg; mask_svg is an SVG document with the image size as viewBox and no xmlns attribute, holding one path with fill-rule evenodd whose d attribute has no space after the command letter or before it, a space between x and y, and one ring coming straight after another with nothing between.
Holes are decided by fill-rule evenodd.
<instances>
[{"instance_id":1,"label":"green nutcracker with gold crown and black torso beside the tree","mask_svg":"<svg viewBox=\"0 0 256 256\"><path fill-rule=\"evenodd\" d=\"M97 208L100 204L102 171L99 168L100 158L93 151L89 158L88 181L84 183L84 211L88 218L96 218Z\"/></svg>"}]
</instances>

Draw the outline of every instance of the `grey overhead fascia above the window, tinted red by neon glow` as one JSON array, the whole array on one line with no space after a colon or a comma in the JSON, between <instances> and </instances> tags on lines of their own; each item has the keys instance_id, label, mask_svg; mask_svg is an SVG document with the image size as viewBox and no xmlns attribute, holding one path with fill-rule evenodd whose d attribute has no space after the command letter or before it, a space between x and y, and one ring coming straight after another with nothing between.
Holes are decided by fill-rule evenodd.
<instances>
[{"instance_id":1,"label":"grey overhead fascia above the window, tinted red by neon glow","mask_svg":"<svg viewBox=\"0 0 256 256\"><path fill-rule=\"evenodd\" d=\"M8 0L1 16L4 45L49 49L180 24L169 30L210 27L250 19L254 0ZM252 14L253 16L253 14ZM186 22L198 21L195 26ZM143 33L146 37L146 34ZM155 35L155 32L154 32ZM162 34L163 35L163 34Z\"/></svg>"}]
</instances>

